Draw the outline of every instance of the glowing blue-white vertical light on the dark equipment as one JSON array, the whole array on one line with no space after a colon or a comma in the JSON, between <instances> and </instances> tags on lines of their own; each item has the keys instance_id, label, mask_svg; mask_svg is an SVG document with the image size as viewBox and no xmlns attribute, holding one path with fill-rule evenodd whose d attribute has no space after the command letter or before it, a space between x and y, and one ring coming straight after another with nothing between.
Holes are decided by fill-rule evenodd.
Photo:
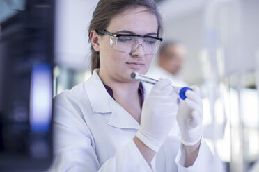
<instances>
[{"instance_id":1,"label":"glowing blue-white vertical light on the dark equipment","mask_svg":"<svg viewBox=\"0 0 259 172\"><path fill-rule=\"evenodd\" d=\"M33 65L31 73L32 132L48 132L52 117L52 67Z\"/></svg>"}]
</instances>

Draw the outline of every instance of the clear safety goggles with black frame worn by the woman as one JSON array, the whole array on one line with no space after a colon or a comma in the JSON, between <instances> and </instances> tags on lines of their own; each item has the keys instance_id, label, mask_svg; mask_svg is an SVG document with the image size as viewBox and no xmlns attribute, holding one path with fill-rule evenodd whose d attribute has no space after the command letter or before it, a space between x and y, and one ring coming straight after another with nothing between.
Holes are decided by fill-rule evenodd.
<instances>
[{"instance_id":1,"label":"clear safety goggles with black frame worn by the woman","mask_svg":"<svg viewBox=\"0 0 259 172\"><path fill-rule=\"evenodd\" d=\"M123 53L133 53L142 46L145 54L155 54L159 48L162 37L152 37L149 35L131 35L131 34L116 34L106 30L100 31L105 35L110 36L110 44L113 49Z\"/></svg>"}]
</instances>

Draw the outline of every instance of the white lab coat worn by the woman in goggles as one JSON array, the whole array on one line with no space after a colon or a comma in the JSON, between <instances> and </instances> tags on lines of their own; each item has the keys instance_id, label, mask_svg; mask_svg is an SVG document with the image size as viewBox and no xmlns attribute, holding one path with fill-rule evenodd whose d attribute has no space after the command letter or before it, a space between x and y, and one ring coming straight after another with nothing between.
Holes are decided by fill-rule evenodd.
<instances>
[{"instance_id":1,"label":"white lab coat worn by the woman in goggles","mask_svg":"<svg viewBox=\"0 0 259 172\"><path fill-rule=\"evenodd\" d=\"M97 70L56 96L54 107L55 160L49 171L213 171L214 156L204 139L196 162L185 168L185 149L175 136L166 139L150 168L132 140L139 123L111 98Z\"/></svg>"}]
</instances>

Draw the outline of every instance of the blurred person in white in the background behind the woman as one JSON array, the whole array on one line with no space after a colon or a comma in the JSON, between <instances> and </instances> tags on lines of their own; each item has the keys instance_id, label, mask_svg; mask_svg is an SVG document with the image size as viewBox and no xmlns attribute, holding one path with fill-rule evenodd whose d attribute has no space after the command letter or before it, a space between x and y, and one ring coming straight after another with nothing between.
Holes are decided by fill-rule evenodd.
<instances>
[{"instance_id":1,"label":"blurred person in white in the background behind the woman","mask_svg":"<svg viewBox=\"0 0 259 172\"><path fill-rule=\"evenodd\" d=\"M186 87L187 83L178 76L186 55L186 47L181 42L163 42L157 55L157 64L150 67L146 75L155 79L169 78L173 85Z\"/></svg>"}]
</instances>

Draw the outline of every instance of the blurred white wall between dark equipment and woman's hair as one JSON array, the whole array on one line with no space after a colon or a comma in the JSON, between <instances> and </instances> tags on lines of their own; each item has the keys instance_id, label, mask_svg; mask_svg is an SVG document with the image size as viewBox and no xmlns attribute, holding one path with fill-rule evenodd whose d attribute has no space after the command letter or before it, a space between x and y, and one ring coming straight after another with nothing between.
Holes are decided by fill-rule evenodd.
<instances>
[{"instance_id":1,"label":"blurred white wall between dark equipment and woman's hair","mask_svg":"<svg viewBox=\"0 0 259 172\"><path fill-rule=\"evenodd\" d=\"M88 25L96 4L97 0L56 0L56 64L88 69Z\"/></svg>"}]
</instances>

